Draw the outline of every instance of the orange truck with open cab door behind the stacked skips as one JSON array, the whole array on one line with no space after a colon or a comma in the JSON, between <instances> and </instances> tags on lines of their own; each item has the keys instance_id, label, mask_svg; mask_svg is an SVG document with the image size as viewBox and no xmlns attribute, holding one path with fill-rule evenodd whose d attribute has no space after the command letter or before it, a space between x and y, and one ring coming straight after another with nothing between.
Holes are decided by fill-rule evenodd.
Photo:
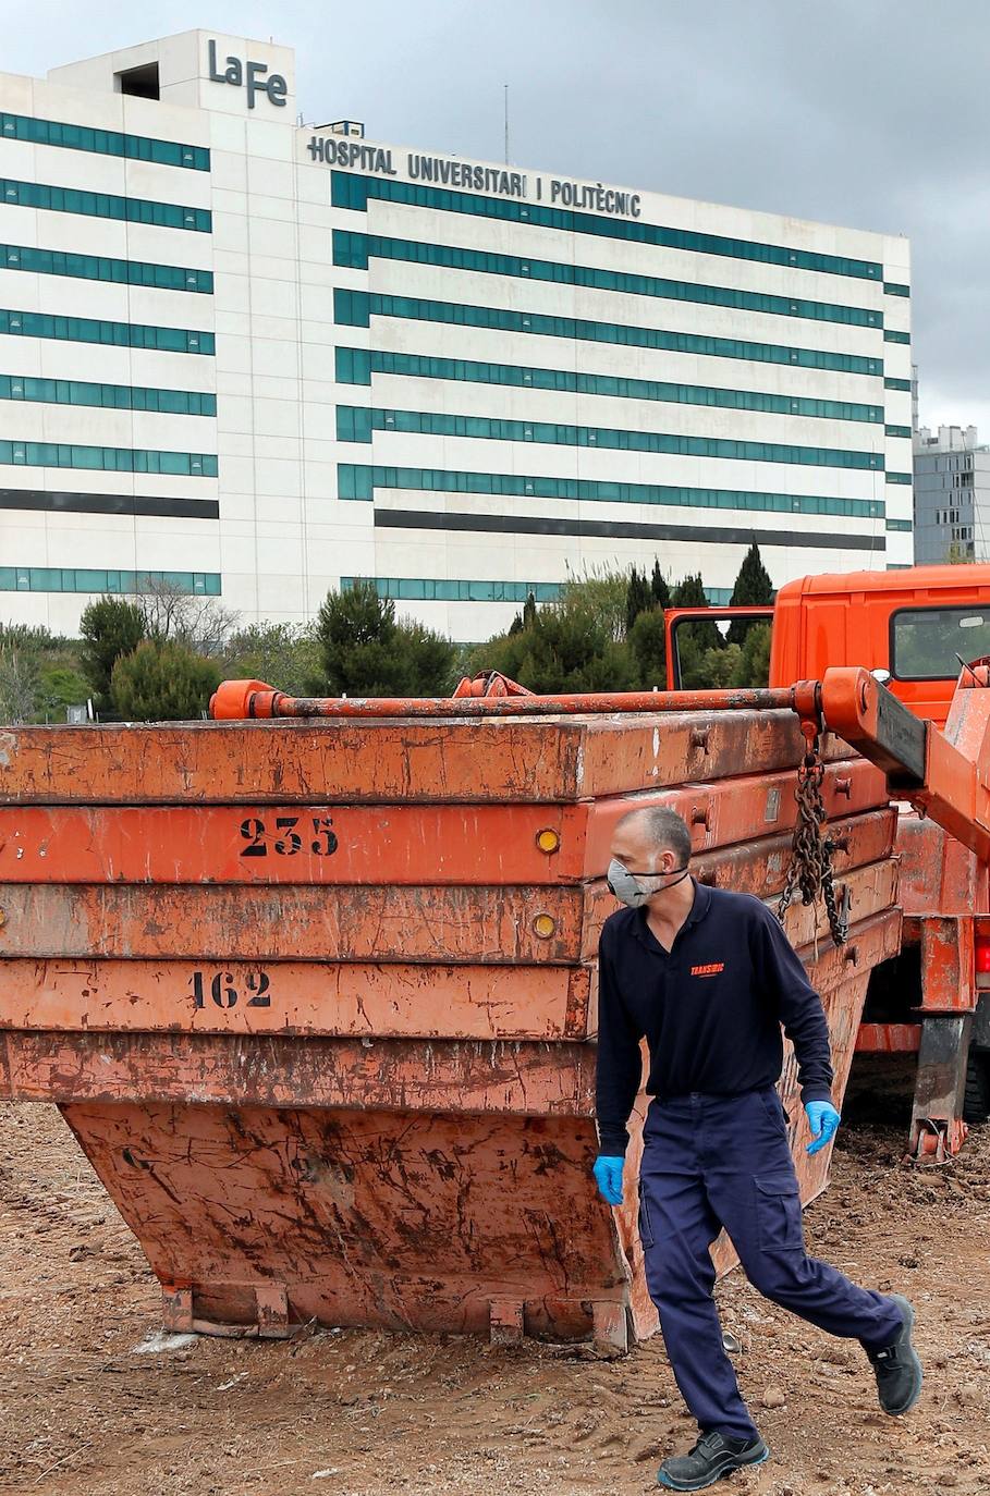
<instances>
[{"instance_id":1,"label":"orange truck with open cab door behind the stacked skips","mask_svg":"<svg viewBox=\"0 0 990 1496\"><path fill-rule=\"evenodd\" d=\"M983 684L968 666L990 657L990 565L806 576L782 586L773 607L671 609L667 681L680 682L679 628L697 618L739 616L772 624L772 687L861 666L930 724L927 732L906 724L915 744L938 745L939 733L954 741L947 723L960 676L963 687ZM869 742L860 748L870 755ZM873 757L888 770L900 808L905 923L902 950L870 981L855 1047L918 1056L909 1152L944 1158L960 1146L968 1122L990 1115L990 917L978 824L987 766L978 761L977 778L966 773L959 782L947 782L948 766L942 769L941 793L959 797L947 818L947 808L939 812L927 799L927 761Z\"/></svg>"}]
</instances>

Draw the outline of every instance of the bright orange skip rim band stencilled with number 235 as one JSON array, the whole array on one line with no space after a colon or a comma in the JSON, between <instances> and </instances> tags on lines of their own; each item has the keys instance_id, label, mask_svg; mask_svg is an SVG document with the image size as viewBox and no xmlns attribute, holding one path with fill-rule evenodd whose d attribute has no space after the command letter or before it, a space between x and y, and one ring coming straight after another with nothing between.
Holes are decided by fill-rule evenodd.
<instances>
[{"instance_id":1,"label":"bright orange skip rim band stencilled with number 235","mask_svg":"<svg viewBox=\"0 0 990 1496\"><path fill-rule=\"evenodd\" d=\"M828 814L884 802L861 760L831 764ZM6 883L567 883L609 862L630 809L668 805L698 847L724 847L794 824L793 775L761 775L573 806L296 805L3 806ZM541 839L549 838L546 850Z\"/></svg>"}]
</instances>

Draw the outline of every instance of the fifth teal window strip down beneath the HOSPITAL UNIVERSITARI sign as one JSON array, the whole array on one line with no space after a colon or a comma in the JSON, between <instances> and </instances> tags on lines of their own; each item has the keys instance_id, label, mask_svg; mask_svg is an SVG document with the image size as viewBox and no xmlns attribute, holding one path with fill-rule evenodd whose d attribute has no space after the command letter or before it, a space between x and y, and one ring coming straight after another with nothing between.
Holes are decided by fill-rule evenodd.
<instances>
[{"instance_id":1,"label":"fifth teal window strip down beneath the HOSPITAL UNIVERSITARI sign","mask_svg":"<svg viewBox=\"0 0 990 1496\"><path fill-rule=\"evenodd\" d=\"M486 441L534 441L549 446L598 447L676 456L727 458L745 462L788 462L802 467L882 471L879 452L806 447L782 441L736 441L727 437L671 435L609 426L571 426L550 420L508 420L496 416L452 416L426 410L336 407L338 441L371 441L372 431L402 431L429 437L477 437Z\"/></svg>"}]
</instances>

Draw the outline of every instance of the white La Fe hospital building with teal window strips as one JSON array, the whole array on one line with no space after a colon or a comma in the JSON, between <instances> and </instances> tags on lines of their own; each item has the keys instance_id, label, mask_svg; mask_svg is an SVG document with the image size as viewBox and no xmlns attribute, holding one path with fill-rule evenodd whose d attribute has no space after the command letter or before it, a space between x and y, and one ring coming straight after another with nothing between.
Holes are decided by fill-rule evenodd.
<instances>
[{"instance_id":1,"label":"white La Fe hospital building with teal window strips","mask_svg":"<svg viewBox=\"0 0 990 1496\"><path fill-rule=\"evenodd\" d=\"M299 126L209 31L0 109L0 616L371 576L482 639L586 567L911 561L903 238Z\"/></svg>"}]
</instances>

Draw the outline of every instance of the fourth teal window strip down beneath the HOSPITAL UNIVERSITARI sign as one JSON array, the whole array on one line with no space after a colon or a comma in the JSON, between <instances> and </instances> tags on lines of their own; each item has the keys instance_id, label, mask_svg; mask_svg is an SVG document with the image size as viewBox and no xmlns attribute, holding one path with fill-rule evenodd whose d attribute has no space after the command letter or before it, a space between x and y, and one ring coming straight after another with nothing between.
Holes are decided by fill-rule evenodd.
<instances>
[{"instance_id":1,"label":"fourth teal window strip down beneath the HOSPITAL UNIVERSITARI sign","mask_svg":"<svg viewBox=\"0 0 990 1496\"><path fill-rule=\"evenodd\" d=\"M779 416L812 416L823 420L879 423L882 405L843 399L811 399L761 390L713 389L706 384L673 384L662 380L625 378L615 374L577 374L571 370L525 368L514 364L485 364L477 359L447 359L434 355L336 349L336 378L342 384L369 384L372 374L407 378L467 380L476 384L511 384L519 389L550 389L577 395L618 395L624 399L670 401L725 410L760 410Z\"/></svg>"}]
</instances>

